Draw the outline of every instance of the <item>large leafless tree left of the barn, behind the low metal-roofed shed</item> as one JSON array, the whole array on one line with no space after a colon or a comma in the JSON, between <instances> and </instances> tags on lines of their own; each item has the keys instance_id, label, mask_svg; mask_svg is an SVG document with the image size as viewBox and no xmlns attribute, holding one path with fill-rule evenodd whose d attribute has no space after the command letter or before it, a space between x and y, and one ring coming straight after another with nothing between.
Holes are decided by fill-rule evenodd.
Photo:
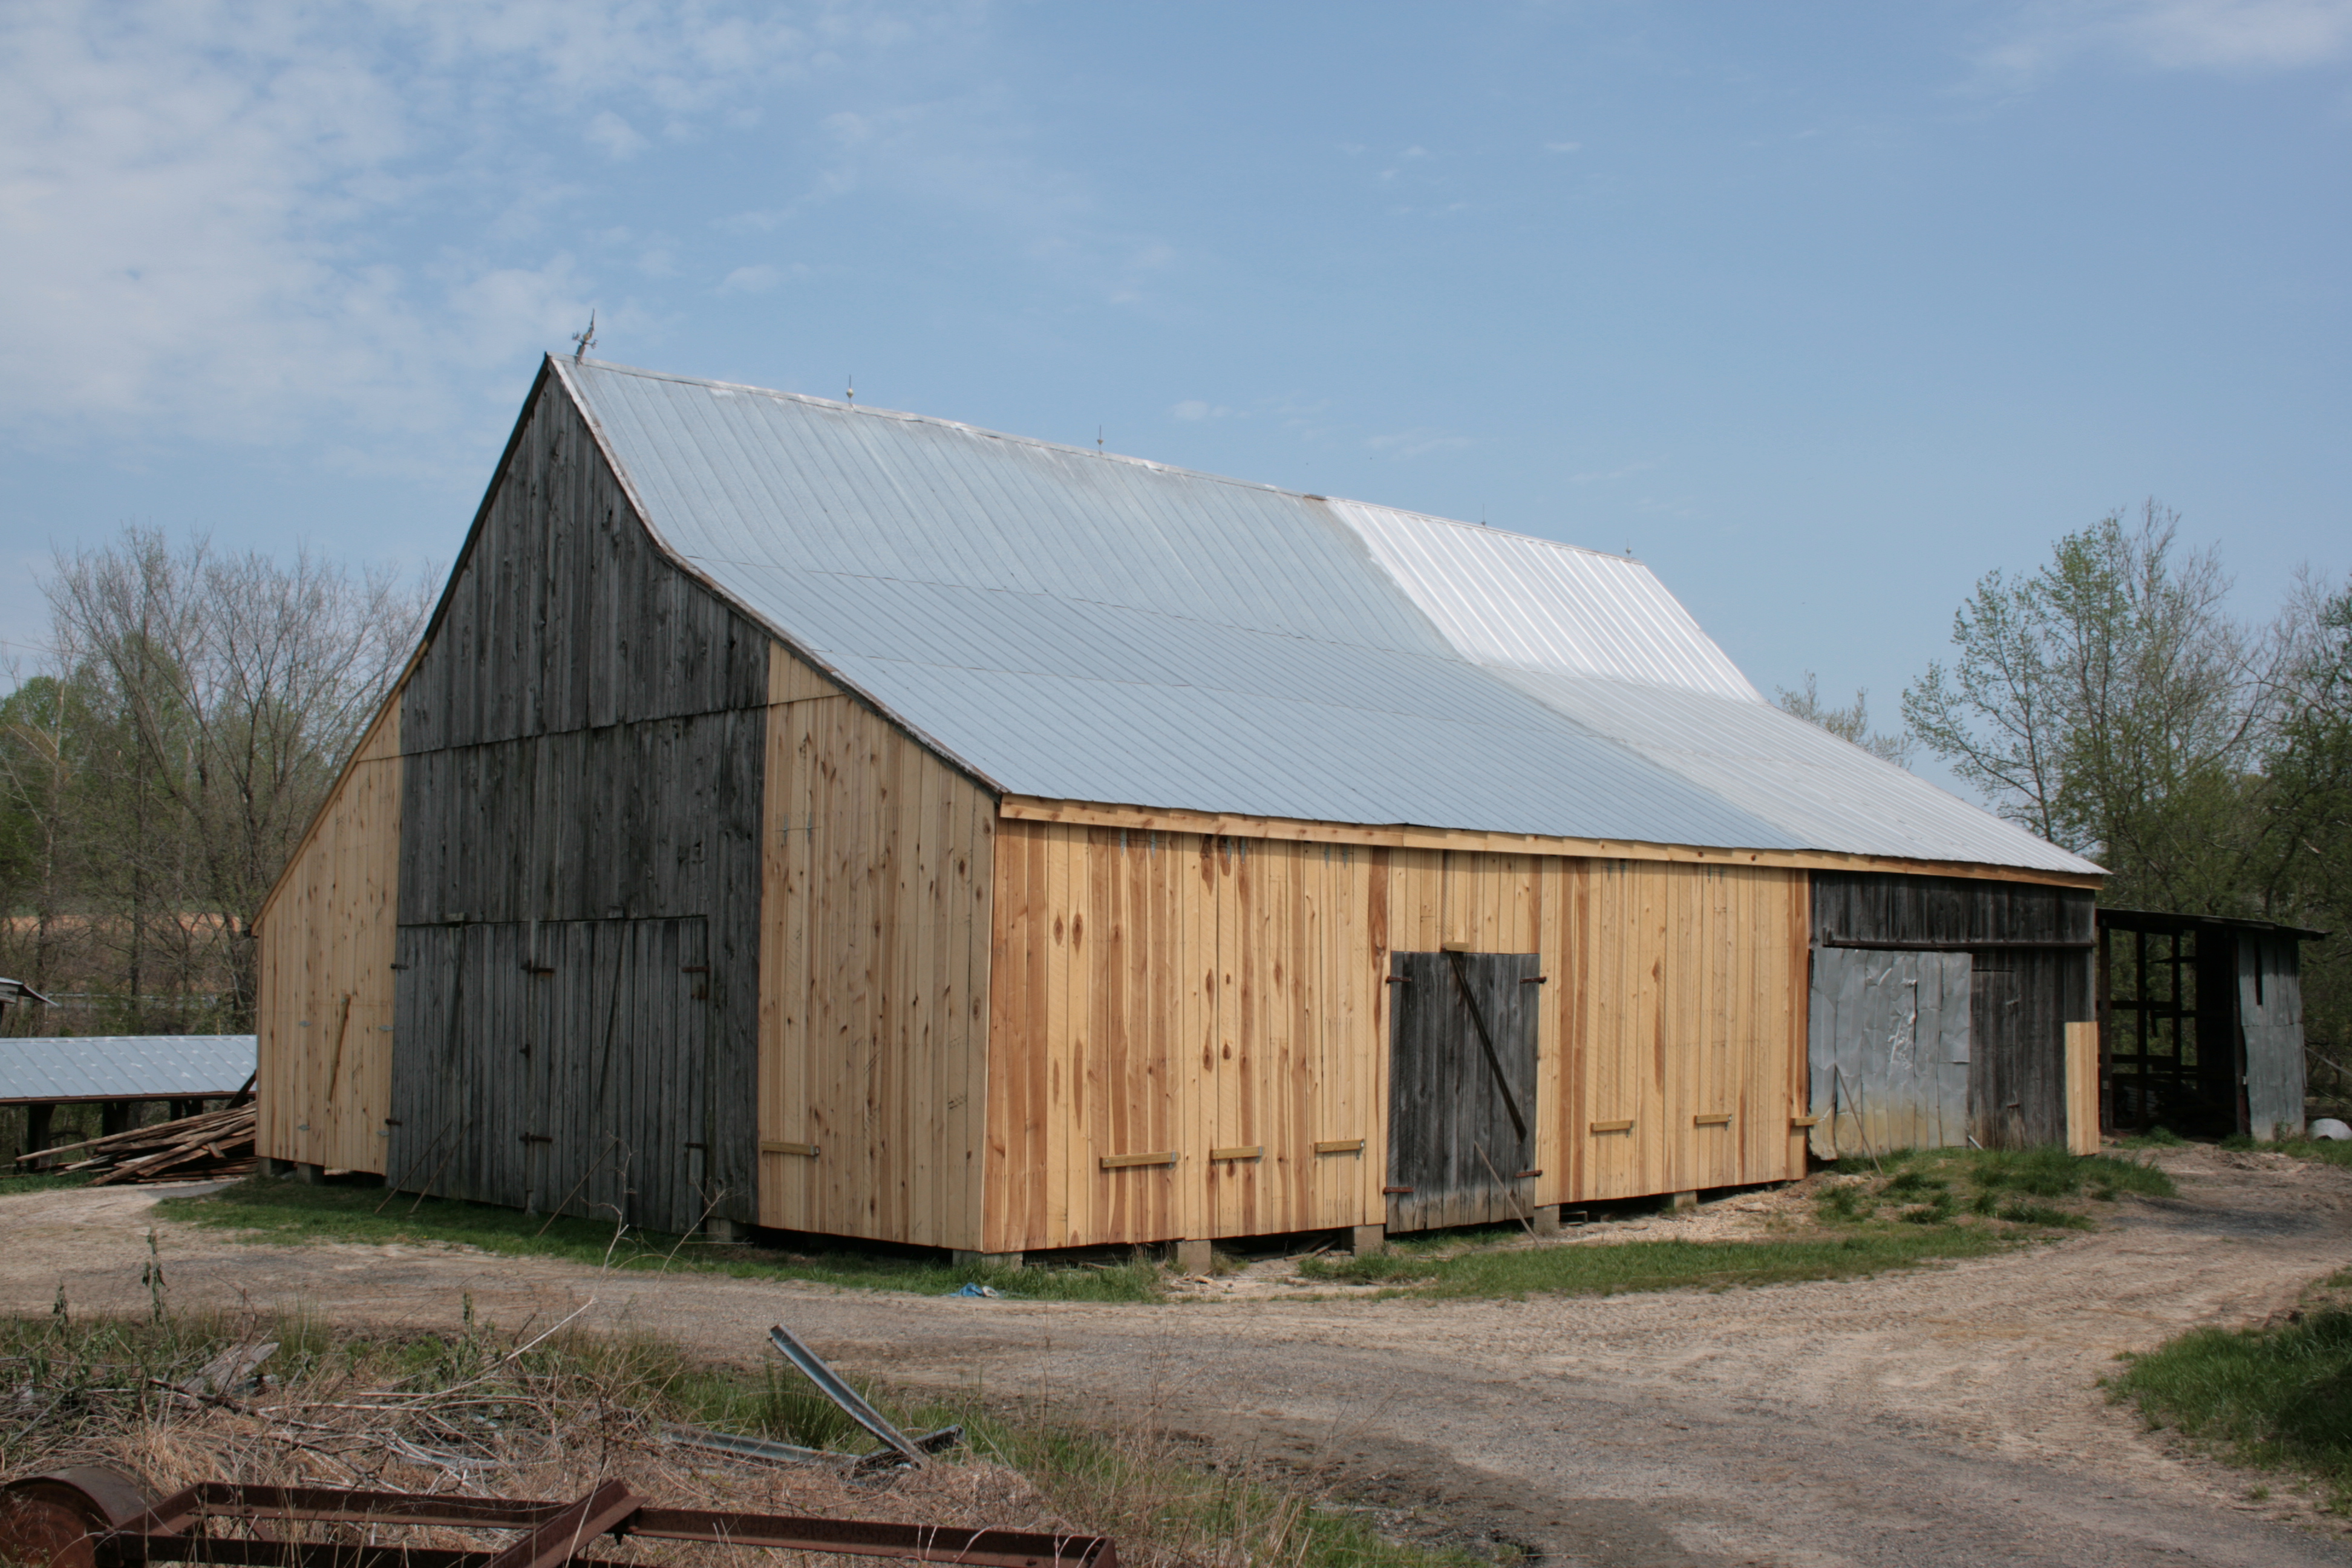
<instances>
[{"instance_id":1,"label":"large leafless tree left of the barn, behind the low metal-roofed shed","mask_svg":"<svg viewBox=\"0 0 2352 1568\"><path fill-rule=\"evenodd\" d=\"M423 625L423 585L299 552L172 550L125 529L47 583L85 710L85 889L132 997L216 971L254 1006L252 922Z\"/></svg>"}]
</instances>

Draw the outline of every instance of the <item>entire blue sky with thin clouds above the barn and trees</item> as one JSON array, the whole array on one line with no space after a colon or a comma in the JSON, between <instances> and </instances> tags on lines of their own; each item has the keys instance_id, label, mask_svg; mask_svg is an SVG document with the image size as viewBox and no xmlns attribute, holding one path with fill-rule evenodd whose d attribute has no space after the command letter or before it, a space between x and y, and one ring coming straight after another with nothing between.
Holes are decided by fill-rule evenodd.
<instances>
[{"instance_id":1,"label":"entire blue sky with thin clouds above the barn and trees","mask_svg":"<svg viewBox=\"0 0 2352 1568\"><path fill-rule=\"evenodd\" d=\"M1884 726L2150 496L2345 581L2347 153L2352 0L12 0L0 672L122 524L447 569L593 310L1630 550Z\"/></svg>"}]
</instances>

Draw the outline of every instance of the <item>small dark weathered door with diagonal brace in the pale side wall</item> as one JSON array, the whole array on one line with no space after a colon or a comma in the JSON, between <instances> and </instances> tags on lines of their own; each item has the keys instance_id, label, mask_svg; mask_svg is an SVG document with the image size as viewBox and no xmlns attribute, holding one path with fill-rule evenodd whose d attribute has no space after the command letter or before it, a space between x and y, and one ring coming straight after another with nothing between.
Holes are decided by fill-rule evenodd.
<instances>
[{"instance_id":1,"label":"small dark weathered door with diagonal brace in the pale side wall","mask_svg":"<svg viewBox=\"0 0 2352 1568\"><path fill-rule=\"evenodd\" d=\"M1388 1227L1529 1213L1536 1164L1534 952L1392 952Z\"/></svg>"}]
</instances>

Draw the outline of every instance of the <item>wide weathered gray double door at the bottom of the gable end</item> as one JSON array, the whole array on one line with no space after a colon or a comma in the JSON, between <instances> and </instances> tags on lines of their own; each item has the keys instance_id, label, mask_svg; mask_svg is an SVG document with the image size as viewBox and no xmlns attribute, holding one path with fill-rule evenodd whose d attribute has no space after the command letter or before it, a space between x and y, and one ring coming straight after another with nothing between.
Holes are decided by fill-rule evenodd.
<instances>
[{"instance_id":1,"label":"wide weathered gray double door at the bottom of the gable end","mask_svg":"<svg viewBox=\"0 0 2352 1568\"><path fill-rule=\"evenodd\" d=\"M710 1201L703 919L402 926L390 1180L684 1232Z\"/></svg>"}]
</instances>

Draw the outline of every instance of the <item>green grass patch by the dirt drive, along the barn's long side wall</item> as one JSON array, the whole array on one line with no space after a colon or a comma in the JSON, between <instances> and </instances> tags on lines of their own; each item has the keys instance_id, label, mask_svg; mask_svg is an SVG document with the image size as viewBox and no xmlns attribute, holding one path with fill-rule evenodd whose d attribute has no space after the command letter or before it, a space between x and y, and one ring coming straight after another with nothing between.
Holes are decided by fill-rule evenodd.
<instances>
[{"instance_id":1,"label":"green grass patch by the dirt drive, along the barn's long side wall","mask_svg":"<svg viewBox=\"0 0 2352 1568\"><path fill-rule=\"evenodd\" d=\"M1842 1161L1811 1222L1759 1241L1524 1246L1517 1227L1416 1237L1359 1258L1305 1258L1305 1279L1449 1295L1613 1295L1856 1279L2091 1229L2084 1204L2173 1197L2154 1166L2065 1150L1898 1150Z\"/></svg>"}]
</instances>

